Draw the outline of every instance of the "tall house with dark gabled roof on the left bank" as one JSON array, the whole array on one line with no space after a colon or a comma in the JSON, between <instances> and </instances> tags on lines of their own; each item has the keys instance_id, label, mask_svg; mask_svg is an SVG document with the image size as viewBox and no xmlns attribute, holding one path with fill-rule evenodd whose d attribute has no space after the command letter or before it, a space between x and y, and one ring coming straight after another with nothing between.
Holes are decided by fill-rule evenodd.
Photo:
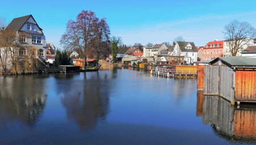
<instances>
[{"instance_id":1,"label":"tall house with dark gabled roof on the left bank","mask_svg":"<svg viewBox=\"0 0 256 145\"><path fill-rule=\"evenodd\" d=\"M36 59L46 60L46 36L32 15L13 19L6 29L16 32L19 36L20 44L23 45L19 49L20 56L30 55Z\"/></svg>"}]
</instances>

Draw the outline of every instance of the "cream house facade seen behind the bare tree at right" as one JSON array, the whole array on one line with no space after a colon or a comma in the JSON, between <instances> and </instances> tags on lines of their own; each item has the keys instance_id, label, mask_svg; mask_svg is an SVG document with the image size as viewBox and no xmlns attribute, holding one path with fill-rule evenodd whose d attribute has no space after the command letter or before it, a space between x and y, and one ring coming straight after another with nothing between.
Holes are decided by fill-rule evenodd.
<instances>
[{"instance_id":1,"label":"cream house facade seen behind the bare tree at right","mask_svg":"<svg viewBox=\"0 0 256 145\"><path fill-rule=\"evenodd\" d=\"M238 50L237 52L237 56L241 56L242 55L242 51L245 51L245 49L248 47L248 46L253 46L255 45L254 43L254 39L243 39L243 40L240 40L241 42L241 45L242 45L242 48L240 50ZM223 47L223 56L232 56L231 52L230 52L230 47L229 47L229 44L230 43L234 43L234 40L225 40L224 41L224 47Z\"/></svg>"}]
</instances>

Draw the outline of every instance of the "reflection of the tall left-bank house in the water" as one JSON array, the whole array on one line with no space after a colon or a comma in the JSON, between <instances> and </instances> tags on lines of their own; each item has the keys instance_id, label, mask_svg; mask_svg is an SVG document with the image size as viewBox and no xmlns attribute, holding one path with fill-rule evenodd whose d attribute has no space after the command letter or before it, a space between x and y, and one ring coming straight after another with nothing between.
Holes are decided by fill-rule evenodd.
<instances>
[{"instance_id":1,"label":"reflection of the tall left-bank house in the water","mask_svg":"<svg viewBox=\"0 0 256 145\"><path fill-rule=\"evenodd\" d=\"M46 105L47 75L1 77L0 125L17 121L34 126Z\"/></svg>"}]
</instances>

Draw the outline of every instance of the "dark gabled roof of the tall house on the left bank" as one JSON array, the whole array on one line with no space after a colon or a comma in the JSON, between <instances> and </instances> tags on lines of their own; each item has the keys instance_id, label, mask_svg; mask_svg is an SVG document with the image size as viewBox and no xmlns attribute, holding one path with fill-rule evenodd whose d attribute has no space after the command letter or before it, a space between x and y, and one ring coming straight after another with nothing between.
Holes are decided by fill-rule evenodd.
<instances>
[{"instance_id":1,"label":"dark gabled roof of the tall house on the left bank","mask_svg":"<svg viewBox=\"0 0 256 145\"><path fill-rule=\"evenodd\" d=\"M11 23L6 27L6 29L11 29L13 31L19 31L20 28L22 28L22 26L24 25L24 23L26 23L27 20L30 18L30 16L34 19L34 17L32 15L26 15L26 16L22 16L22 17L19 17L19 18L14 18L11 21ZM42 31L42 28L40 28L40 30Z\"/></svg>"}]
</instances>

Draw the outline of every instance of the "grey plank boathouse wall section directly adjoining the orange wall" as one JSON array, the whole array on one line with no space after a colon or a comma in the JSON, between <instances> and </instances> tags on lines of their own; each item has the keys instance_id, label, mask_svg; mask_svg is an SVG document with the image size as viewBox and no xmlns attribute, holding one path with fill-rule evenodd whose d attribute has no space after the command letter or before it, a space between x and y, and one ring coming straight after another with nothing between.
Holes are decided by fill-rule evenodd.
<instances>
[{"instance_id":1,"label":"grey plank boathouse wall section directly adjoining the orange wall","mask_svg":"<svg viewBox=\"0 0 256 145\"><path fill-rule=\"evenodd\" d=\"M234 73L229 67L220 66L220 96L234 104Z\"/></svg>"}]
</instances>

